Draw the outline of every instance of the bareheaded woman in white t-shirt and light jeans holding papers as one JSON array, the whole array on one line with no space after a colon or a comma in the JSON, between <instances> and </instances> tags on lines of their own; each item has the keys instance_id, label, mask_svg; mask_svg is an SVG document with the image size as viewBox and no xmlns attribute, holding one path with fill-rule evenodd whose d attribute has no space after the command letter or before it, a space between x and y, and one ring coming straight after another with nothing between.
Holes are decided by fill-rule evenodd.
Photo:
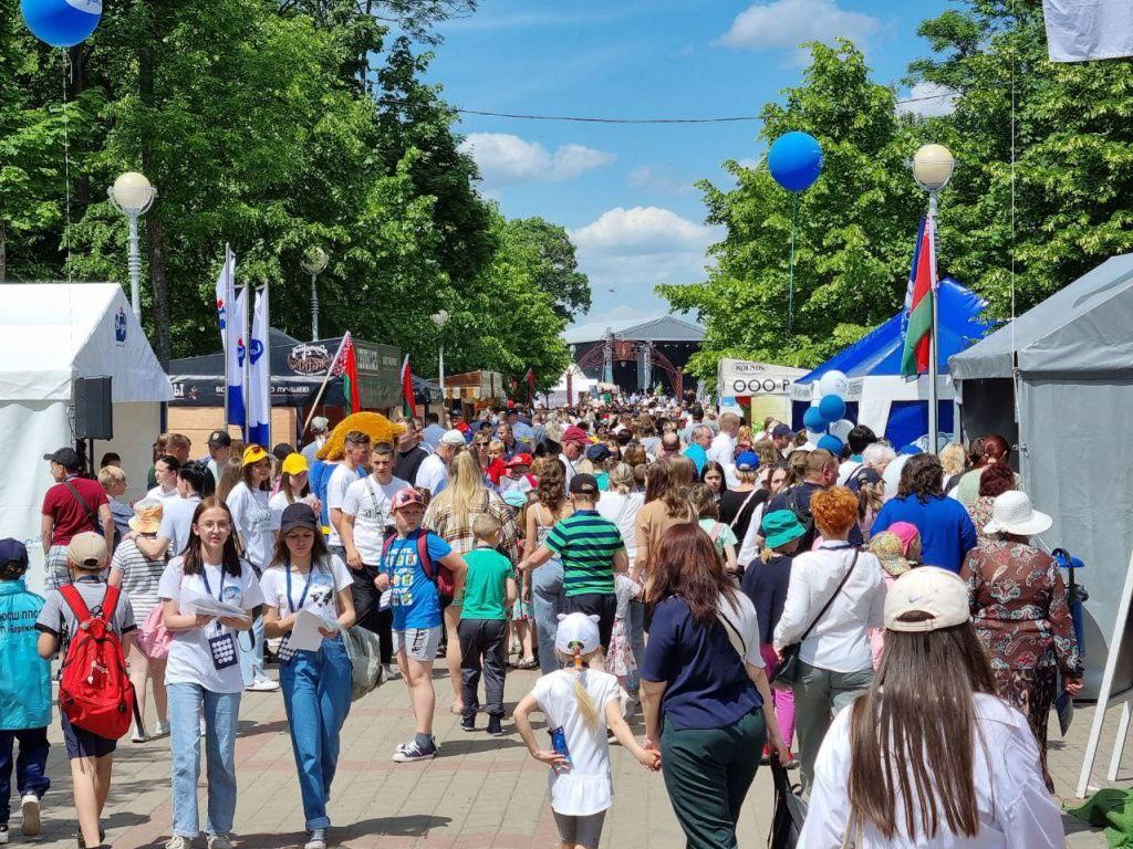
<instances>
[{"instance_id":1,"label":"bareheaded woman in white t-shirt and light jeans holding papers","mask_svg":"<svg viewBox=\"0 0 1133 849\"><path fill-rule=\"evenodd\" d=\"M185 554L169 561L157 585L165 629L172 635L165 689L173 749L173 835L167 849L189 849L199 833L197 778L201 738L208 751L208 849L231 849L236 813L236 728L244 680L236 635L252 627L263 602L259 582L240 561L232 514L216 498L193 513ZM242 616L213 617L201 607L216 602ZM198 727L204 726L204 735Z\"/></svg>"}]
</instances>

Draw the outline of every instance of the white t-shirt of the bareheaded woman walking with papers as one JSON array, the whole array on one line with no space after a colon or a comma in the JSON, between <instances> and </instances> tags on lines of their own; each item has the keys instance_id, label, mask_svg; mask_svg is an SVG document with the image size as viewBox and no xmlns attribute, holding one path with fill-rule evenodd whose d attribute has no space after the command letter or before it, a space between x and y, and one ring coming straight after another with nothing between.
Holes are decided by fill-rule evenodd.
<instances>
[{"instance_id":1,"label":"white t-shirt of the bareheaded woman walking with papers","mask_svg":"<svg viewBox=\"0 0 1133 849\"><path fill-rule=\"evenodd\" d=\"M220 595L222 601L237 604L245 610L252 610L264 601L256 573L248 568L247 564L241 565L240 577L237 578L223 574L220 566L206 563L204 565L204 575L208 578L206 583L201 575L186 575L182 563L182 558L174 557L162 573L157 583L157 595L162 599L179 601L181 591L187 590L201 595L210 594L211 591L213 598ZM233 640L237 638L235 631L223 625L218 629L218 625L214 619L203 628L172 632L169 660L165 664L165 684L196 684L211 693L244 691L244 676L240 674L239 663L224 669L216 669L213 663L208 641L225 633L231 634Z\"/></svg>"}]
</instances>

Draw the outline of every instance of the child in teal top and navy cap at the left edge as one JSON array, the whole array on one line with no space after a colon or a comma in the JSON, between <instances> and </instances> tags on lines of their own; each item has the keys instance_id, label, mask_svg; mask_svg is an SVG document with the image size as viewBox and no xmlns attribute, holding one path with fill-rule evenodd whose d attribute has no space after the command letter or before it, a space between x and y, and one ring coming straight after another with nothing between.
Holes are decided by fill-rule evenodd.
<instances>
[{"instance_id":1,"label":"child in teal top and navy cap at the left edge","mask_svg":"<svg viewBox=\"0 0 1133 849\"><path fill-rule=\"evenodd\" d=\"M20 831L40 833L40 799L48 779L48 726L51 724L51 664L36 651L35 620L43 598L24 583L27 547L0 540L0 843L8 842L11 813L12 749L19 743L16 790L24 815Z\"/></svg>"}]
</instances>

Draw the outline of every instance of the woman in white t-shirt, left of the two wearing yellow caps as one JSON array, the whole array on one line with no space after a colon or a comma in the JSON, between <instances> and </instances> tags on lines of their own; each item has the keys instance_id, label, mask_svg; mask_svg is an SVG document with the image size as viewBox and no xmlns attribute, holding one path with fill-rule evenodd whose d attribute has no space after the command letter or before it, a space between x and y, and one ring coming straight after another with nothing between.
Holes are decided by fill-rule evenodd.
<instances>
[{"instance_id":1,"label":"woman in white t-shirt, left of the two wearing yellow caps","mask_svg":"<svg viewBox=\"0 0 1133 849\"><path fill-rule=\"evenodd\" d=\"M269 505L272 477L271 455L258 445L244 449L244 479L232 487L224 503L232 512L233 530L239 534L244 556L256 577L267 568L275 548L275 525ZM247 638L240 640L240 672L244 686L252 691L271 692L279 684L264 671L264 624L256 618Z\"/></svg>"}]
</instances>

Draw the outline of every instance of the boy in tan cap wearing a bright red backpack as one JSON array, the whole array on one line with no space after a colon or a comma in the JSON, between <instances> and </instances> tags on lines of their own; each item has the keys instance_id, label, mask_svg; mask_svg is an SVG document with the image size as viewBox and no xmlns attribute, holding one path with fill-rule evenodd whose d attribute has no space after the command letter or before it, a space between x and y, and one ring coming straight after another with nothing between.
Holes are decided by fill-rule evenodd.
<instances>
[{"instance_id":1,"label":"boy in tan cap wearing a bright red backpack","mask_svg":"<svg viewBox=\"0 0 1133 849\"><path fill-rule=\"evenodd\" d=\"M103 842L99 820L110 792L114 748L135 719L123 654L136 631L134 610L117 586L107 585L107 560L102 537L91 532L73 537L67 547L71 583L48 593L35 623L40 657L51 658L61 642L67 646L59 719L71 765L78 849Z\"/></svg>"}]
</instances>

